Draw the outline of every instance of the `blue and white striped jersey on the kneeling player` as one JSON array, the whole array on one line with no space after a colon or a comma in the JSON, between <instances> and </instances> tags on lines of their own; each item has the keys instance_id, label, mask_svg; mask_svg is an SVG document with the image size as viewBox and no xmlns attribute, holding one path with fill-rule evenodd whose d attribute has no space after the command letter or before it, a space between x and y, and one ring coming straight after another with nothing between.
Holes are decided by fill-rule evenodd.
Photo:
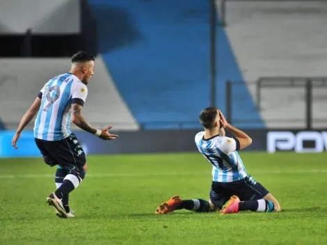
<instances>
[{"instance_id":1,"label":"blue and white striped jersey on the kneeling player","mask_svg":"<svg viewBox=\"0 0 327 245\"><path fill-rule=\"evenodd\" d=\"M248 174L237 153L239 142L225 136L203 139L205 132L196 134L196 146L202 155L212 164L212 177L215 182L233 182L242 180Z\"/></svg>"}]
</instances>

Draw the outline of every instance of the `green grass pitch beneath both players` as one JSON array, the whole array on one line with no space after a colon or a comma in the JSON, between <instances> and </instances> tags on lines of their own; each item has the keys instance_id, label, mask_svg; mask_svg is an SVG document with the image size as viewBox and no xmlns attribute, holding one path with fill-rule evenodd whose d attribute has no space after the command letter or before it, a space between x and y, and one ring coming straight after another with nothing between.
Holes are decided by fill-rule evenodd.
<instances>
[{"instance_id":1,"label":"green grass pitch beneath both players","mask_svg":"<svg viewBox=\"0 0 327 245\"><path fill-rule=\"evenodd\" d=\"M327 154L241 153L283 212L155 215L178 194L208 199L211 165L199 153L89 156L70 195L76 219L46 205L54 172L42 159L0 159L0 244L327 244Z\"/></svg>"}]
</instances>

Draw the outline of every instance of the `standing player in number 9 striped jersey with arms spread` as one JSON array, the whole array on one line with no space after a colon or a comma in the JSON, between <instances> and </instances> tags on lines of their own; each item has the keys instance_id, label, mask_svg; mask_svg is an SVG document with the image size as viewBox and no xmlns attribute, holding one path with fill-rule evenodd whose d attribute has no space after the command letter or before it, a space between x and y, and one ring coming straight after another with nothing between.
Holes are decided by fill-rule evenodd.
<instances>
[{"instance_id":1,"label":"standing player in number 9 striped jersey with arms spread","mask_svg":"<svg viewBox=\"0 0 327 245\"><path fill-rule=\"evenodd\" d=\"M83 105L88 95L88 84L93 76L95 58L86 52L72 56L70 72L50 79L36 97L32 106L23 116L12 145L15 149L24 127L36 114L34 125L35 143L40 149L45 163L56 166L56 191L47 197L47 203L54 206L58 216L74 217L68 204L69 193L81 184L88 171L86 156L70 131L70 122L100 139L112 140L118 136L110 134L109 129L96 129L83 117Z\"/></svg>"}]
</instances>

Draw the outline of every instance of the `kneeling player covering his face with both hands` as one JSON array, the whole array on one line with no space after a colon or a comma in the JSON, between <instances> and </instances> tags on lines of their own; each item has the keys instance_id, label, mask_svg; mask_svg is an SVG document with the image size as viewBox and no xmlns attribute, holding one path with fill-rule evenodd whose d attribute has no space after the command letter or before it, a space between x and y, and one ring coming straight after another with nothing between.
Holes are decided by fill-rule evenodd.
<instances>
[{"instance_id":1,"label":"kneeling player covering his face with both hands","mask_svg":"<svg viewBox=\"0 0 327 245\"><path fill-rule=\"evenodd\" d=\"M244 210L280 212L280 205L276 198L246 173L246 168L237 152L252 143L250 136L230 125L223 113L215 107L208 107L201 111L200 122L205 131L196 134L196 145L212 164L213 180L209 202L203 199L182 200L180 196L173 196L157 207L156 214L182 209L195 212L221 211L228 200L230 202L221 214ZM235 137L226 137L225 128Z\"/></svg>"}]
</instances>

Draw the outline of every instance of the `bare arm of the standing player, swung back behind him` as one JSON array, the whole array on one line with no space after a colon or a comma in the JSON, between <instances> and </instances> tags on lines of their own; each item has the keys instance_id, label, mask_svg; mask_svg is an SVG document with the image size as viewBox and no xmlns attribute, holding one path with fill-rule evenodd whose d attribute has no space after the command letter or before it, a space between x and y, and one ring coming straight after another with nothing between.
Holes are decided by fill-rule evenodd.
<instances>
[{"instance_id":1,"label":"bare arm of the standing player, swung back behind him","mask_svg":"<svg viewBox=\"0 0 327 245\"><path fill-rule=\"evenodd\" d=\"M41 97L42 97L42 94L41 94ZM20 134L22 133L23 129L29 124L29 122L31 122L31 120L38 113L38 110L40 109L40 105L41 105L41 99L40 99L40 96L38 96L34 100L31 107L26 111L22 120L20 121L19 126L17 127L16 133L15 133L15 136L13 136L13 139L11 141L11 145L13 145L13 147L15 149L18 149L16 143L20 137Z\"/></svg>"}]
</instances>

